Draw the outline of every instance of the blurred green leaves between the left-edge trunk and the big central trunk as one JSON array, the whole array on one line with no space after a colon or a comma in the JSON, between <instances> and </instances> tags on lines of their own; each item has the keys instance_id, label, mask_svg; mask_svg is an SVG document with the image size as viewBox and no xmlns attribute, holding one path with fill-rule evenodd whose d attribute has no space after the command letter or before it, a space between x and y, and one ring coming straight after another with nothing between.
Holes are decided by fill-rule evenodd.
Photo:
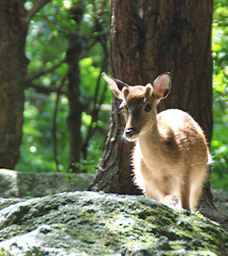
<instances>
[{"instance_id":1,"label":"blurred green leaves between the left-edge trunk and the big central trunk","mask_svg":"<svg viewBox=\"0 0 228 256\"><path fill-rule=\"evenodd\" d=\"M36 1L27 1L26 9L30 9ZM70 9L74 6L85 5L80 30L88 44L84 56L80 60L81 69L81 98L87 103L82 114L81 133L86 139L89 126L92 122L91 109L94 104L93 97L98 77L101 73L101 64L104 59L103 48L96 41L98 36L98 24L104 24L109 35L109 2L107 1L52 1L45 5L30 22L26 38L26 57L29 59L25 123L23 128L23 143L21 146L21 158L16 165L17 170L30 172L45 172L57 170L54 160L53 144L53 116L56 107L57 93L45 89L59 88L67 75L67 64L64 62L67 53L67 35L77 33L77 22L70 15ZM106 31L101 31L106 33ZM95 39L94 39L95 38ZM107 44L107 41L105 42ZM57 69L54 69L57 67ZM106 67L107 69L108 67ZM47 72L47 70L50 70ZM42 75L40 75L42 73ZM98 101L106 84L100 80ZM41 91L34 88L41 87ZM63 88L64 90L64 88ZM39 93L41 92L41 93ZM108 91L103 103L110 102L111 93ZM69 165L69 133L67 128L68 100L67 95L61 95L57 111L57 160L58 169L67 171ZM92 123L97 127L94 136L88 142L87 158L81 157L78 167L94 172L98 165L104 144L104 134L109 123L109 112L100 112L98 122Z\"/></svg>"}]
</instances>

